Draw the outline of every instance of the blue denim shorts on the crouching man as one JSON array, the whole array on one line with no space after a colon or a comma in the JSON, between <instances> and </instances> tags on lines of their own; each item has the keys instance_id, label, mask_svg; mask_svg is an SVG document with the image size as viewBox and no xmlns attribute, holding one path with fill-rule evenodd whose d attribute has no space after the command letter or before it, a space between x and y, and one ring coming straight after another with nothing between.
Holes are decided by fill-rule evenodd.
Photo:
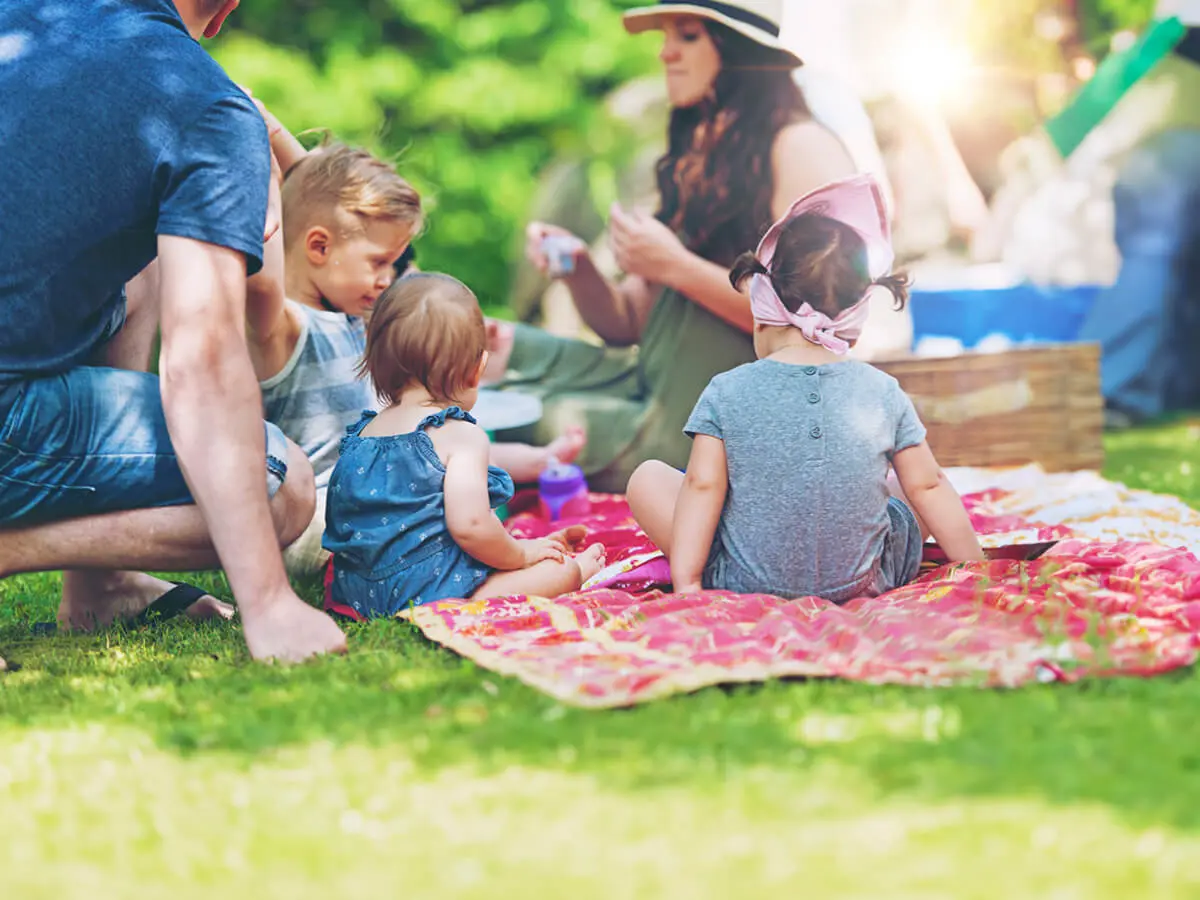
<instances>
[{"instance_id":1,"label":"blue denim shorts on the crouching man","mask_svg":"<svg viewBox=\"0 0 1200 900\"><path fill-rule=\"evenodd\" d=\"M288 448L265 428L274 496ZM80 366L0 384L0 527L192 502L157 376Z\"/></svg>"}]
</instances>

